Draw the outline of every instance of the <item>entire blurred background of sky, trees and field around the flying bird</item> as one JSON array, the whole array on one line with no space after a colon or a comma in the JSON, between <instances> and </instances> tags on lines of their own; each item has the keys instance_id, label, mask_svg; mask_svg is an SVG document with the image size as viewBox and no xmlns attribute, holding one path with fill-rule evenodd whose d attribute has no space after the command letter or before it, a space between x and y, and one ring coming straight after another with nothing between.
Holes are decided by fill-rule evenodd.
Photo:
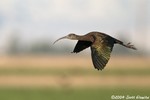
<instances>
[{"instance_id":1,"label":"entire blurred background of sky, trees and field around the flying bird","mask_svg":"<svg viewBox=\"0 0 150 100\"><path fill-rule=\"evenodd\" d=\"M107 33L115 45L103 71L90 49L71 54L69 33ZM150 96L149 0L1 0L0 99L99 100L112 95Z\"/></svg>"}]
</instances>

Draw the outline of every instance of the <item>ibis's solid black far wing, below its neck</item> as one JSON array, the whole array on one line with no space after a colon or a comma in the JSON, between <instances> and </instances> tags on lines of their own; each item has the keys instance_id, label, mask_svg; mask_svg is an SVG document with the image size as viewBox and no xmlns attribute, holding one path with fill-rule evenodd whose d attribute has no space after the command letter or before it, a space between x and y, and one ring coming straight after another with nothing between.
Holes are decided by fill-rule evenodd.
<instances>
[{"instance_id":1,"label":"ibis's solid black far wing, below its neck","mask_svg":"<svg viewBox=\"0 0 150 100\"><path fill-rule=\"evenodd\" d=\"M92 45L92 42L90 41L81 41L79 40L73 50L73 53L78 53L86 48L88 48L89 46Z\"/></svg>"}]
</instances>

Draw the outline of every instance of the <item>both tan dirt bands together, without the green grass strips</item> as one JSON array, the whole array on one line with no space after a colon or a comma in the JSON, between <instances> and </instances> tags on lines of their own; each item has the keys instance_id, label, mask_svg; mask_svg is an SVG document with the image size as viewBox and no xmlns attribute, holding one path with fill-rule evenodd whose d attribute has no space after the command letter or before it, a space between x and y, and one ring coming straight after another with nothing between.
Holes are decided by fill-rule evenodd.
<instances>
[{"instance_id":1,"label":"both tan dirt bands together, without the green grass strips","mask_svg":"<svg viewBox=\"0 0 150 100\"><path fill-rule=\"evenodd\" d=\"M1 56L0 70L4 68L85 68L94 70L90 56ZM150 60L143 57L111 57L110 69L132 67L146 69ZM150 87L147 76L60 76L60 75L0 75L0 86L6 87Z\"/></svg>"}]
</instances>

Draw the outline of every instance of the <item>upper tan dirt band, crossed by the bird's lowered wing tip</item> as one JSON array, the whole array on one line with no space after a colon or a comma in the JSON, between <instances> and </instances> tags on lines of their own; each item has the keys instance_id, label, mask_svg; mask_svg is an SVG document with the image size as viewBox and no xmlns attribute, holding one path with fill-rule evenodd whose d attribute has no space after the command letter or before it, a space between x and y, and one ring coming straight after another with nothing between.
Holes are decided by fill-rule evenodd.
<instances>
[{"instance_id":1,"label":"upper tan dirt band, crossed by the bird's lowered wing tip","mask_svg":"<svg viewBox=\"0 0 150 100\"><path fill-rule=\"evenodd\" d=\"M111 57L107 67L149 67L150 58L146 57ZM81 67L91 68L92 65L90 56L1 56L0 68L70 68Z\"/></svg>"}]
</instances>

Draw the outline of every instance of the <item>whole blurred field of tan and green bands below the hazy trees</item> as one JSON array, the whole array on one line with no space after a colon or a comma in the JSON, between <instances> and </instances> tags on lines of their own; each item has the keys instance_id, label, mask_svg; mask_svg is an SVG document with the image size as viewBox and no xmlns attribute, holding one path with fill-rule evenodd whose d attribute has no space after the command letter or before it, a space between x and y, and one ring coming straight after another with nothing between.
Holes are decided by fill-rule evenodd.
<instances>
[{"instance_id":1,"label":"whole blurred field of tan and green bands below the hazy trees","mask_svg":"<svg viewBox=\"0 0 150 100\"><path fill-rule=\"evenodd\" d=\"M150 59L111 57L103 71L90 56L1 56L0 100L109 100L150 96Z\"/></svg>"}]
</instances>

